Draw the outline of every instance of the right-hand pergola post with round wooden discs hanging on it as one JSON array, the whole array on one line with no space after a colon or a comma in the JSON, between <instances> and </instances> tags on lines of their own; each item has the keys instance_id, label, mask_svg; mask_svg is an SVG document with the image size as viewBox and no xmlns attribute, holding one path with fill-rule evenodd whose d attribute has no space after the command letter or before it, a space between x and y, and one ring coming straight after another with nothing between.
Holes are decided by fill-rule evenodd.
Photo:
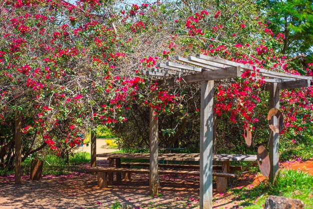
<instances>
[{"instance_id":1,"label":"right-hand pergola post with round wooden discs hanging on it","mask_svg":"<svg viewBox=\"0 0 313 209\"><path fill-rule=\"evenodd\" d=\"M272 83L269 90L269 108L279 109L279 89L277 83ZM269 180L274 182L278 173L278 144L279 133L275 133L272 130L269 131L269 160L270 160L270 172Z\"/></svg>"}]
</instances>

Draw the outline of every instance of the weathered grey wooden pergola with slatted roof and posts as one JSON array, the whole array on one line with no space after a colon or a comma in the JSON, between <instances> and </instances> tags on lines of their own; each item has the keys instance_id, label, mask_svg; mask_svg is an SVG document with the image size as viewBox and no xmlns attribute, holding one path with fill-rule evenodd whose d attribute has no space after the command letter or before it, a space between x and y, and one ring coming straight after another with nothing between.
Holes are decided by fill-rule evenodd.
<instances>
[{"instance_id":1,"label":"weathered grey wooden pergola with slatted roof and posts","mask_svg":"<svg viewBox=\"0 0 313 209\"><path fill-rule=\"evenodd\" d=\"M151 76L168 76L166 81L173 83L180 77L180 83L201 82L200 104L200 208L212 207L212 153L214 143L213 97L214 80L239 77L246 69L258 70L264 77L266 89L269 90L269 108L279 109L279 90L310 85L312 77L270 71L252 65L241 64L218 57L197 54L187 58L177 56L180 63L166 62L158 64L151 71L142 71ZM176 76L171 78L170 76ZM158 120L150 108L149 113L149 191L157 193L158 185ZM278 138L279 133L270 130L269 134L269 179L275 180L278 171ZM17 153L17 151L16 151ZM95 166L95 134L91 134L91 167Z\"/></svg>"}]
</instances>

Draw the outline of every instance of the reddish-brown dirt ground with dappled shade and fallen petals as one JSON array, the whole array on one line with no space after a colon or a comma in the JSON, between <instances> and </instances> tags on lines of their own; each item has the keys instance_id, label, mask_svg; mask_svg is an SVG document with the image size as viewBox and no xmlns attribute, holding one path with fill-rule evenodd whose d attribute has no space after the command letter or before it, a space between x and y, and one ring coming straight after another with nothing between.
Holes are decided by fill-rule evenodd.
<instances>
[{"instance_id":1,"label":"reddish-brown dirt ground with dappled shade and fallen petals","mask_svg":"<svg viewBox=\"0 0 313 209\"><path fill-rule=\"evenodd\" d=\"M105 145L103 142L103 139L97 140L97 153L111 152L112 149L101 148ZM80 148L82 151L90 151L90 146ZM108 166L108 161L97 159L97 164ZM198 208L199 178L196 176L160 175L159 195L149 196L147 174L133 174L130 181L123 181L121 185L98 189L96 175L85 172L88 166L80 165L80 173L47 175L39 181L30 181L29 176L23 176L19 186L14 184L14 175L0 176L0 208L110 208L115 201L137 209ZM313 172L312 159L282 166L307 169L311 174ZM262 177L246 179L239 180L233 187L253 186ZM238 208L240 202L233 201L227 192L217 193L214 188L213 184L213 208Z\"/></svg>"}]
</instances>

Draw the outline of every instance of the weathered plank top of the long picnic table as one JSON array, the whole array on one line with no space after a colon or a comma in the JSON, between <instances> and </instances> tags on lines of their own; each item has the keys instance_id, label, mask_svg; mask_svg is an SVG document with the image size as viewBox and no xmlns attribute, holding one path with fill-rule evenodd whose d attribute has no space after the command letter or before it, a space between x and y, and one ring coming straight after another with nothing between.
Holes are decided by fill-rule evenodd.
<instances>
[{"instance_id":1,"label":"weathered plank top of the long picnic table","mask_svg":"<svg viewBox=\"0 0 313 209\"><path fill-rule=\"evenodd\" d=\"M97 157L149 159L149 153L103 153ZM199 153L158 153L158 160L200 161ZM253 154L212 154L213 161L255 161Z\"/></svg>"}]
</instances>

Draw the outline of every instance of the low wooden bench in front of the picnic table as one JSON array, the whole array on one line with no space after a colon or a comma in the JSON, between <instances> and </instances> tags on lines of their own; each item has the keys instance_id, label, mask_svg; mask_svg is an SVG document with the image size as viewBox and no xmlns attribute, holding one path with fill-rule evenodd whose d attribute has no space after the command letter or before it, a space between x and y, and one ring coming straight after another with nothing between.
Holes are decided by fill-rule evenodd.
<instances>
[{"instance_id":1,"label":"low wooden bench in front of the picnic table","mask_svg":"<svg viewBox=\"0 0 313 209\"><path fill-rule=\"evenodd\" d=\"M138 168L121 168L121 167L89 167L87 168L89 172L97 172L97 185L100 188L107 188L108 184L112 184L113 182L108 182L108 173L149 173L149 169L138 169ZM159 170L160 174L183 174L183 175L199 175L199 171L193 170ZM221 176L221 177L236 177L235 173L222 173L222 172L213 172L213 176ZM117 183L121 183L117 178Z\"/></svg>"}]
</instances>

